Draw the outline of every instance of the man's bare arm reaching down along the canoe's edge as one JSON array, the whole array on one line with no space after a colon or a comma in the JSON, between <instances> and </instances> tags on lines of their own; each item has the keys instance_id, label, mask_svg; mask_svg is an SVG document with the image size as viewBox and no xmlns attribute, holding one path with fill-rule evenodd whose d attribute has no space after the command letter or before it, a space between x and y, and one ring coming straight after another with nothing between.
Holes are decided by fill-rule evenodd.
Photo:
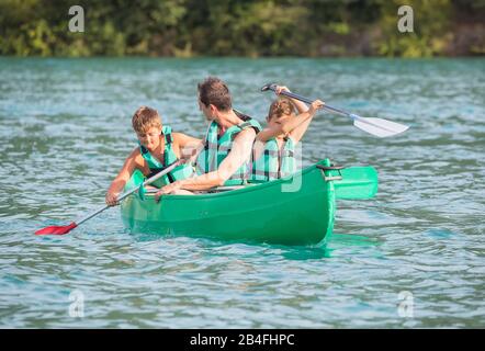
<instances>
[{"instance_id":1,"label":"man's bare arm reaching down along the canoe's edge","mask_svg":"<svg viewBox=\"0 0 485 351\"><path fill-rule=\"evenodd\" d=\"M162 194L168 194L173 190L206 190L214 186L221 186L247 161L251 155L252 141L256 132L253 128L240 132L234 139L233 148L227 157L221 162L216 171L208 172L199 177L183 179L163 186L157 194L158 199Z\"/></svg>"}]
</instances>

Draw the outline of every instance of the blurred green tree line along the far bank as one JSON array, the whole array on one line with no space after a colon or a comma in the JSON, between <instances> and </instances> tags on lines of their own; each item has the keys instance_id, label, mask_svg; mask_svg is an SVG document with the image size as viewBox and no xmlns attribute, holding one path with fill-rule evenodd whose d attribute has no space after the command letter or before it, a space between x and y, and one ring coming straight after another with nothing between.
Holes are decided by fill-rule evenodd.
<instances>
[{"instance_id":1,"label":"blurred green tree line along the far bank","mask_svg":"<svg viewBox=\"0 0 485 351\"><path fill-rule=\"evenodd\" d=\"M397 31L403 4L414 33ZM482 56L484 19L485 0L0 0L0 54Z\"/></svg>"}]
</instances>

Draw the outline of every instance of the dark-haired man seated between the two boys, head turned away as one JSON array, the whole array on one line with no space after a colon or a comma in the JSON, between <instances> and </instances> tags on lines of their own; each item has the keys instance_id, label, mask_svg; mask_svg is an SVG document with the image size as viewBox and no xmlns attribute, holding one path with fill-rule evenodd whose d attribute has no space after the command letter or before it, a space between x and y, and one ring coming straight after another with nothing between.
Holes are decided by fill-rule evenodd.
<instances>
[{"instance_id":1,"label":"dark-haired man seated between the two boys, head turned away","mask_svg":"<svg viewBox=\"0 0 485 351\"><path fill-rule=\"evenodd\" d=\"M163 186L156 199L174 190L201 191L249 179L252 144L261 126L233 110L229 89L221 79L208 77L198 88L199 109L210 122L195 162L199 176Z\"/></svg>"}]
</instances>

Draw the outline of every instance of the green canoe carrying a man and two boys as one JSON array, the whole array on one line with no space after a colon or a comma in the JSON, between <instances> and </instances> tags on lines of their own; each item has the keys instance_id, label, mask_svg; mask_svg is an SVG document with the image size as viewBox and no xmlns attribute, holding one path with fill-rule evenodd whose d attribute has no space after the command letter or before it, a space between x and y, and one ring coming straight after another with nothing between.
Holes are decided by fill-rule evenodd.
<instances>
[{"instance_id":1,"label":"green canoe carrying a man and two boys","mask_svg":"<svg viewBox=\"0 0 485 351\"><path fill-rule=\"evenodd\" d=\"M136 171L125 190L143 180ZM122 202L121 213L133 233L312 245L331 233L336 199L369 199L376 190L372 167L340 170L326 159L287 178L235 190L163 195L159 203L153 193L144 200L134 193Z\"/></svg>"}]
</instances>

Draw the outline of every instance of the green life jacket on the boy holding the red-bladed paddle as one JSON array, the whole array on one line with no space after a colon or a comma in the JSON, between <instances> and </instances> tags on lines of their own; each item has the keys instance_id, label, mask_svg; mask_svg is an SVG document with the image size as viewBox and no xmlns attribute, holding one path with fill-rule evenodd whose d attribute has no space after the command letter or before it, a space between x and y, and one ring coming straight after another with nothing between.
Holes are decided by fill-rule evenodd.
<instances>
[{"instance_id":1,"label":"green life jacket on the boy holding the red-bladed paddle","mask_svg":"<svg viewBox=\"0 0 485 351\"><path fill-rule=\"evenodd\" d=\"M167 166L178 160L172 148L173 137L171 131L171 127L167 125L161 128L161 135L165 138L163 163L154 157L150 151L138 141L139 151L150 169L150 174L147 178L154 177L155 174L161 172ZM190 178L193 172L193 168L190 165L181 165L176 167L171 172L156 180L150 185L161 188L163 185L173 183L174 181Z\"/></svg>"}]
</instances>

